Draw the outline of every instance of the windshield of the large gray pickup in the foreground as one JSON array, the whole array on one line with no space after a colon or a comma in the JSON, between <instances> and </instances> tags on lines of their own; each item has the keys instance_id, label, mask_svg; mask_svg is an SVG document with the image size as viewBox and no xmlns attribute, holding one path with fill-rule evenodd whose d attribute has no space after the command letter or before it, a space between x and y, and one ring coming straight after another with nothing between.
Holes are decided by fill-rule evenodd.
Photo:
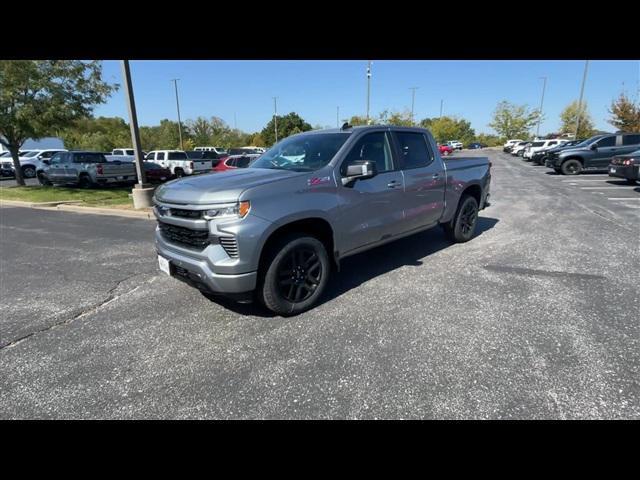
<instances>
[{"instance_id":1,"label":"windshield of the large gray pickup in the foreground","mask_svg":"<svg viewBox=\"0 0 640 480\"><path fill-rule=\"evenodd\" d=\"M296 135L285 138L249 168L312 172L326 166L349 138L350 132Z\"/></svg>"}]
</instances>

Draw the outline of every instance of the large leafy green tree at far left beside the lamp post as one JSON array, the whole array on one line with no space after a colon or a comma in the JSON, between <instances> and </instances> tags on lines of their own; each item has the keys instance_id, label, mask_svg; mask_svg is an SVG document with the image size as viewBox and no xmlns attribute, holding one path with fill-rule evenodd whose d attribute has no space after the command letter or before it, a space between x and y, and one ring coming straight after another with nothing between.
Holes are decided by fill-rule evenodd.
<instances>
[{"instance_id":1,"label":"large leafy green tree at far left beside the lamp post","mask_svg":"<svg viewBox=\"0 0 640 480\"><path fill-rule=\"evenodd\" d=\"M118 85L102 80L99 61L0 60L0 142L24 185L18 151L28 138L55 135L88 117Z\"/></svg>"}]
</instances>

